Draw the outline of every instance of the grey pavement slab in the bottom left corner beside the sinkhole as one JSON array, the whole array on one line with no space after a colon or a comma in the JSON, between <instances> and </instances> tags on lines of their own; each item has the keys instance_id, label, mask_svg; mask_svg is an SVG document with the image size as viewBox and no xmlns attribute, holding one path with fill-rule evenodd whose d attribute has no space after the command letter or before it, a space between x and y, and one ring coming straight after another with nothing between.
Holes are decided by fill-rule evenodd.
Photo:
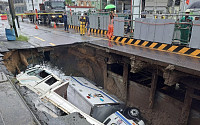
<instances>
[{"instance_id":1,"label":"grey pavement slab in the bottom left corner beside the sinkhole","mask_svg":"<svg viewBox=\"0 0 200 125\"><path fill-rule=\"evenodd\" d=\"M35 125L33 116L3 72L0 72L0 125Z\"/></svg>"}]
</instances>

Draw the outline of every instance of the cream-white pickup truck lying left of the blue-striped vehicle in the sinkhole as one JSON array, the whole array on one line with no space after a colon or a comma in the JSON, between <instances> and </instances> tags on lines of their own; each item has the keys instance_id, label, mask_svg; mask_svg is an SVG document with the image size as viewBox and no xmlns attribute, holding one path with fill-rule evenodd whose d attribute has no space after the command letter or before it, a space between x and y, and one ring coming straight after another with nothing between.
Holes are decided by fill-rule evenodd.
<instances>
[{"instance_id":1,"label":"cream-white pickup truck lying left of the blue-striped vehicle in the sinkhole","mask_svg":"<svg viewBox=\"0 0 200 125\"><path fill-rule=\"evenodd\" d=\"M76 106L67 101L67 87L69 82L63 82L60 78L46 69L44 66L36 65L16 76L20 86L25 86L39 95L41 100L51 102L66 114L78 112L92 125L103 125L103 123L82 112Z\"/></svg>"}]
</instances>

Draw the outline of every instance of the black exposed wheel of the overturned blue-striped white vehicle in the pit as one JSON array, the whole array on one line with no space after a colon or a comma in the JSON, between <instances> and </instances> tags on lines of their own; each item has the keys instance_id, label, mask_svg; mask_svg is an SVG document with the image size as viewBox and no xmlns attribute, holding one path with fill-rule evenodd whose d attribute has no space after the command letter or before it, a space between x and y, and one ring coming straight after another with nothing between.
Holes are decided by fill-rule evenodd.
<instances>
[{"instance_id":1,"label":"black exposed wheel of the overturned blue-striped white vehicle in the pit","mask_svg":"<svg viewBox=\"0 0 200 125\"><path fill-rule=\"evenodd\" d=\"M140 116L140 111L137 108L131 108L128 107L124 110L124 115L128 118L128 119L134 119L136 117Z\"/></svg>"}]
</instances>

